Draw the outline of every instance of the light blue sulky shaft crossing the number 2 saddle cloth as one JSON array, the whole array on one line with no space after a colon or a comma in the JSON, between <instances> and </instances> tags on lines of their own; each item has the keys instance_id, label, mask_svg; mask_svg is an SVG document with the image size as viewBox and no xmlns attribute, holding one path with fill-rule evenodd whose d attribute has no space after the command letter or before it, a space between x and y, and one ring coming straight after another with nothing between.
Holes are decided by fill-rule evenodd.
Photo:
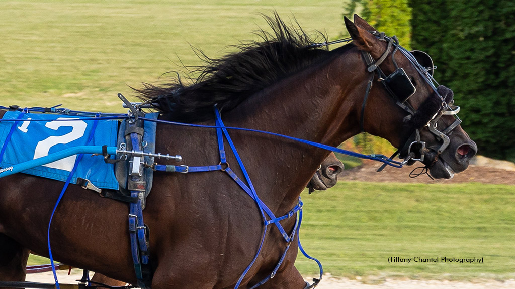
<instances>
[{"instance_id":1,"label":"light blue sulky shaft crossing the number 2 saddle cloth","mask_svg":"<svg viewBox=\"0 0 515 289\"><path fill-rule=\"evenodd\" d=\"M0 177L4 177L7 175L12 175L15 173L19 173L21 171L39 167L45 164L49 164L50 162L76 155L76 154L102 154L102 147L100 146L78 146L73 148L68 148L62 150L57 153L52 153L37 159L31 159L20 164L13 165L11 167L6 167L0 169ZM116 155L116 147L107 147L107 153L110 155Z\"/></svg>"}]
</instances>

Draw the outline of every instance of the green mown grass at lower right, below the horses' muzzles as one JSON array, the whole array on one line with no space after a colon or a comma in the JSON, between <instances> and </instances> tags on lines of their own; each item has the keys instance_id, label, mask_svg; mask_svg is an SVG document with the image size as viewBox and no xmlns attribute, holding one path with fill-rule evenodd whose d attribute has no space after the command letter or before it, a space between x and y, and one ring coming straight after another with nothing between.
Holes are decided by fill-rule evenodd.
<instances>
[{"instance_id":1,"label":"green mown grass at lower right, below the horses' muzzles","mask_svg":"<svg viewBox=\"0 0 515 289\"><path fill-rule=\"evenodd\" d=\"M302 244L332 275L515 277L515 186L338 182L303 201ZM388 264L390 256L412 261ZM416 256L484 263L415 263ZM297 266L316 274L316 264L301 256Z\"/></svg>"}]
</instances>

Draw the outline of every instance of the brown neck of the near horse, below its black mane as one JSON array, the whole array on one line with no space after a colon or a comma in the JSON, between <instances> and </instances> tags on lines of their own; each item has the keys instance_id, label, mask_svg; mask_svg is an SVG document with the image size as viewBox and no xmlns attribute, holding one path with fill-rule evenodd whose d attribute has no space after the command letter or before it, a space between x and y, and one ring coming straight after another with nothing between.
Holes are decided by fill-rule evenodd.
<instances>
[{"instance_id":1,"label":"brown neck of the near horse, below its black mane","mask_svg":"<svg viewBox=\"0 0 515 289\"><path fill-rule=\"evenodd\" d=\"M222 118L226 125L234 127L337 146L359 133L358 107L362 104L366 76L364 72L346 69L355 65L363 65L361 57L348 53L334 56L254 95ZM253 181L258 194L266 194L265 203L280 212L291 208L330 153L273 136L240 132L231 135L235 143L246 144L241 154L259 164L249 169L254 171L250 172L251 177L261 176L261 183Z\"/></svg>"}]
</instances>

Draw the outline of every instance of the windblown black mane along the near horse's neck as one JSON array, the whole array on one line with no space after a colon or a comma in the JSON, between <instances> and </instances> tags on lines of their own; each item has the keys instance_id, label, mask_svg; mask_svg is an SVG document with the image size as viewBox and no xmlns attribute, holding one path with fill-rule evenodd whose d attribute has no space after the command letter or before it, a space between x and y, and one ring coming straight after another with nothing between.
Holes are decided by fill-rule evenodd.
<instances>
[{"instance_id":1,"label":"windblown black mane along the near horse's neck","mask_svg":"<svg viewBox=\"0 0 515 289\"><path fill-rule=\"evenodd\" d=\"M236 52L219 59L197 53L204 64L186 75L191 84L183 83L177 74L164 85L143 83L144 88L135 89L138 97L170 120L205 121L214 118L215 104L224 111L232 110L253 94L328 55L326 48L310 47L316 41L327 41L321 32L313 39L297 22L285 24L277 12L264 18L272 32L256 31L260 41L234 45Z\"/></svg>"}]
</instances>

